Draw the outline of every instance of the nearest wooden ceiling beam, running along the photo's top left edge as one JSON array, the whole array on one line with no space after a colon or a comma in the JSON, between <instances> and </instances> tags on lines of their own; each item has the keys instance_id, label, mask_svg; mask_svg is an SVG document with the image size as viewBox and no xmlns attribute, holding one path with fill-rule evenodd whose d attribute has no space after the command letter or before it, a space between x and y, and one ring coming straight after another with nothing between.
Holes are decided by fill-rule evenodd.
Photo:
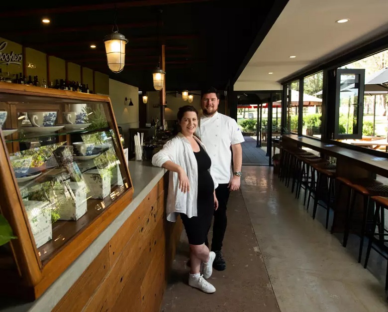
<instances>
[{"instance_id":1,"label":"nearest wooden ceiling beam, running along the photo's top left edge","mask_svg":"<svg viewBox=\"0 0 388 312\"><path fill-rule=\"evenodd\" d=\"M129 8L129 7L141 7L141 6L162 6L169 4L185 4L193 2L207 2L209 0L133 0L115 3L117 9ZM71 13L82 11L100 11L100 10L113 10L114 3L101 3L101 4L85 4L85 5L65 5L61 7L53 8L36 8L26 10L6 10L3 8L0 12L0 17L21 17L28 15L46 15L56 13Z\"/></svg>"}]
</instances>

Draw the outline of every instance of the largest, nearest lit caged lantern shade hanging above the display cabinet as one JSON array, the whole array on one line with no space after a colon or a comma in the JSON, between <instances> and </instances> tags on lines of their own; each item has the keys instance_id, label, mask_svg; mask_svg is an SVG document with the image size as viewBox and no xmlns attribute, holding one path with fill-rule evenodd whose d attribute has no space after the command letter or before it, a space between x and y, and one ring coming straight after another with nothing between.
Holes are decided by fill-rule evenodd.
<instances>
[{"instance_id":1,"label":"largest, nearest lit caged lantern shade hanging above the display cabinet","mask_svg":"<svg viewBox=\"0 0 388 312\"><path fill-rule=\"evenodd\" d=\"M119 73L125 65L125 44L128 39L118 32L112 32L104 39L106 60L109 69L114 73Z\"/></svg>"}]
</instances>

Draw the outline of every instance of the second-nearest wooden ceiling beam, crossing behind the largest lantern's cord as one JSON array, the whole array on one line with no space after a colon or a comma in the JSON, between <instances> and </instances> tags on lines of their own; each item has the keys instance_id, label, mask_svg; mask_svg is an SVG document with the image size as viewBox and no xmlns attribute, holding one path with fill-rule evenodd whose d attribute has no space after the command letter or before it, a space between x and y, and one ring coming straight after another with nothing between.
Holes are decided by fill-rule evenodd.
<instances>
[{"instance_id":1,"label":"second-nearest wooden ceiling beam, crossing behind the largest lantern's cord","mask_svg":"<svg viewBox=\"0 0 388 312\"><path fill-rule=\"evenodd\" d=\"M155 21L147 21L141 23L127 23L127 24L119 24L117 27L121 29L135 29L135 28L147 28L147 27L156 27L157 23ZM48 34L48 33L64 33L64 32L83 32L83 31L92 31L92 30L104 30L106 29L106 34L112 29L112 24L98 24L98 25L88 25L88 26L72 26L72 27L50 27L45 29L26 29L20 31L8 31L7 34L12 36L20 36L20 35L29 35L36 34L37 32Z\"/></svg>"}]
</instances>

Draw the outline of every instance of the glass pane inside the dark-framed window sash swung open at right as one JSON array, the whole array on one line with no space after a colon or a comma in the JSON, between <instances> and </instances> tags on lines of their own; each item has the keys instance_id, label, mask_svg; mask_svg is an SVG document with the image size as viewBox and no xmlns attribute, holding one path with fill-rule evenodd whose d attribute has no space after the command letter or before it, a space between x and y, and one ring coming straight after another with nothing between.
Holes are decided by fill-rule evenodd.
<instances>
[{"instance_id":1,"label":"glass pane inside the dark-framed window sash swung open at right","mask_svg":"<svg viewBox=\"0 0 388 312\"><path fill-rule=\"evenodd\" d=\"M341 74L339 134L358 133L359 75Z\"/></svg>"}]
</instances>

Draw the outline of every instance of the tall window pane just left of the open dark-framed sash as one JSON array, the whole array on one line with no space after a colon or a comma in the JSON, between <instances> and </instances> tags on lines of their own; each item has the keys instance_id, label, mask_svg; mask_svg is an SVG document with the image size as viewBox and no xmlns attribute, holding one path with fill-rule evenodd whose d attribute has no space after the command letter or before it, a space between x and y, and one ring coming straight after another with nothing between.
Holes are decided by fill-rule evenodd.
<instances>
[{"instance_id":1,"label":"tall window pane just left of the open dark-framed sash","mask_svg":"<svg viewBox=\"0 0 388 312\"><path fill-rule=\"evenodd\" d=\"M303 135L321 137L322 87L323 72L303 80Z\"/></svg>"}]
</instances>

